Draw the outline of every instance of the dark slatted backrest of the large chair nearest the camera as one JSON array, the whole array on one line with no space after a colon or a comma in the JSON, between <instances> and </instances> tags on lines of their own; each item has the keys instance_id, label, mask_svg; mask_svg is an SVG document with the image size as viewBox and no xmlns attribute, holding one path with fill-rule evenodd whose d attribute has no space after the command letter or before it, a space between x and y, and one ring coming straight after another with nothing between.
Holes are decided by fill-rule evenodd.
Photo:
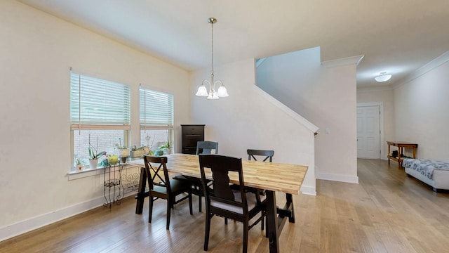
<instances>
[{"instance_id":1,"label":"dark slatted backrest of the large chair nearest the camera","mask_svg":"<svg viewBox=\"0 0 449 253\"><path fill-rule=\"evenodd\" d=\"M232 205L242 208L243 212L248 212L248 203L243 182L243 171L241 158L227 157L223 155L199 155L199 166L201 171L201 183L203 184L206 207L210 202L220 202L224 205ZM209 186L206 179L205 168L212 172L212 185ZM239 199L236 200L234 192L229 184L229 172L234 171L239 175ZM215 205L217 207L217 205Z\"/></svg>"}]
</instances>

